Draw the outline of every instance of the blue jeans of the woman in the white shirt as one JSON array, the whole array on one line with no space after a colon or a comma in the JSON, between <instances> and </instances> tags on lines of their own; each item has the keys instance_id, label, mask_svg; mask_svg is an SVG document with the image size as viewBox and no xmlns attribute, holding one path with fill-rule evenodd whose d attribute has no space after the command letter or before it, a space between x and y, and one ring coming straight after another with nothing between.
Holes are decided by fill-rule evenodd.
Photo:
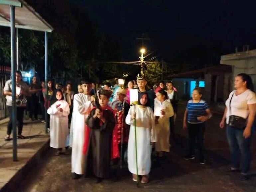
<instances>
[{"instance_id":1,"label":"blue jeans of the woman in the white shirt","mask_svg":"<svg viewBox=\"0 0 256 192\"><path fill-rule=\"evenodd\" d=\"M242 156L241 173L246 174L250 170L251 164L251 137L245 139L242 129L227 126L226 135L231 154L232 168L239 168L239 157Z\"/></svg>"}]
</instances>

